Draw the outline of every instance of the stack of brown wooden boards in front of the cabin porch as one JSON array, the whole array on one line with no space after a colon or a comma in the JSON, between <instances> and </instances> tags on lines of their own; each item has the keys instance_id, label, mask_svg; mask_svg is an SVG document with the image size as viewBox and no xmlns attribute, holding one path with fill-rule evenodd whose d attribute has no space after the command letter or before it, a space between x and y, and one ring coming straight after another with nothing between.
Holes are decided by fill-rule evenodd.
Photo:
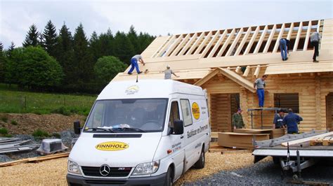
<instances>
[{"instance_id":1,"label":"stack of brown wooden boards in front of the cabin porch","mask_svg":"<svg viewBox=\"0 0 333 186\"><path fill-rule=\"evenodd\" d=\"M253 149L254 141L269 139L270 134L242 134L235 132L219 132L218 145L228 148Z\"/></svg>"}]
</instances>

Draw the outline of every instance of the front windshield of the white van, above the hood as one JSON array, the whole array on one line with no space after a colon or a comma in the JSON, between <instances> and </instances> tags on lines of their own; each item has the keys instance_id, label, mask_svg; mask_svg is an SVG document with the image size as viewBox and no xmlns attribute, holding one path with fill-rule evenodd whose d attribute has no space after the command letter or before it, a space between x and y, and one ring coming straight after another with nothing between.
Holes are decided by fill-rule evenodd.
<instances>
[{"instance_id":1,"label":"front windshield of the white van, above the hood","mask_svg":"<svg viewBox=\"0 0 333 186\"><path fill-rule=\"evenodd\" d=\"M96 101L84 131L162 131L167 101L167 99Z\"/></svg>"}]
</instances>

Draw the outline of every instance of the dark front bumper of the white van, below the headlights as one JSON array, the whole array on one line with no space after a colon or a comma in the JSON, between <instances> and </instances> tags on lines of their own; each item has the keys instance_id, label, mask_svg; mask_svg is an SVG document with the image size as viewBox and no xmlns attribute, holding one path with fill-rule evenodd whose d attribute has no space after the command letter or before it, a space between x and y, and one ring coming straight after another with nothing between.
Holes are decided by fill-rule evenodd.
<instances>
[{"instance_id":1,"label":"dark front bumper of the white van, below the headlights","mask_svg":"<svg viewBox=\"0 0 333 186\"><path fill-rule=\"evenodd\" d=\"M143 178L84 178L83 176L74 176L67 174L68 185L164 185L166 173L159 176L150 176Z\"/></svg>"}]
</instances>

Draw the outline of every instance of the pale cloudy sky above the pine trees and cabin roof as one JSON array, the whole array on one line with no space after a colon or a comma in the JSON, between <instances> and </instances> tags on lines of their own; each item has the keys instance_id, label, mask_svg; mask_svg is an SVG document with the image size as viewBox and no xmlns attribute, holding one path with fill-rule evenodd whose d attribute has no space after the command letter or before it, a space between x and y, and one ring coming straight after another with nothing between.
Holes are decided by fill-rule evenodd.
<instances>
[{"instance_id":1,"label":"pale cloudy sky above the pine trees and cabin roof","mask_svg":"<svg viewBox=\"0 0 333 186\"><path fill-rule=\"evenodd\" d=\"M110 27L166 35L301 20L333 18L333 1L55 1L0 0L0 41L21 46L31 24L48 20L74 34L81 22L88 36Z\"/></svg>"}]
</instances>

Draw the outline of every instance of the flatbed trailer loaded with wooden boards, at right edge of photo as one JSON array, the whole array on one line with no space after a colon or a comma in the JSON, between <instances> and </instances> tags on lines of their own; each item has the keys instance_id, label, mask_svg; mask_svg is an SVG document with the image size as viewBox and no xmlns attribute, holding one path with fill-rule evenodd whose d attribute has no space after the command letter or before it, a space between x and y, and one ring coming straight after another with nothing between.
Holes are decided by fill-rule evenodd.
<instances>
[{"instance_id":1,"label":"flatbed trailer loaded with wooden boards, at right edge of photo","mask_svg":"<svg viewBox=\"0 0 333 186\"><path fill-rule=\"evenodd\" d=\"M273 157L283 173L291 171L294 180L301 178L301 170L322 159L333 160L333 132L310 131L286 134L280 138L254 142L254 163Z\"/></svg>"}]
</instances>

